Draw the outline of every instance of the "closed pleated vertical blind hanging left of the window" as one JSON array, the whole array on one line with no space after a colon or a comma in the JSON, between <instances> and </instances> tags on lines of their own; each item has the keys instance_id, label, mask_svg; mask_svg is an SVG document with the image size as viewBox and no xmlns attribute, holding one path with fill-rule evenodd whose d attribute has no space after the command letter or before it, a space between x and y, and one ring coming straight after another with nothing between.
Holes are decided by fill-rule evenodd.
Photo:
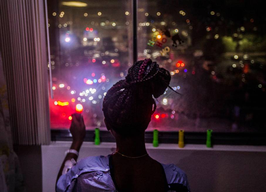
<instances>
[{"instance_id":1,"label":"closed pleated vertical blind hanging left of the window","mask_svg":"<svg viewBox=\"0 0 266 192\"><path fill-rule=\"evenodd\" d=\"M0 1L0 51L14 144L50 142L45 25L42 0Z\"/></svg>"}]
</instances>

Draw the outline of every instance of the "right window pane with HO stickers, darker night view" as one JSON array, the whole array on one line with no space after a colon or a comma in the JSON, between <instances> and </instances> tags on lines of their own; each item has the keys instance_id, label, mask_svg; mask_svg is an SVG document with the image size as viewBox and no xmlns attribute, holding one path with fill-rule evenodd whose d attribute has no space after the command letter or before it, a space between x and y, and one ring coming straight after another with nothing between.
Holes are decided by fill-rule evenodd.
<instances>
[{"instance_id":1,"label":"right window pane with HO stickers, darker night view","mask_svg":"<svg viewBox=\"0 0 266 192\"><path fill-rule=\"evenodd\" d=\"M138 1L138 59L171 72L149 128L265 131L262 1Z\"/></svg>"}]
</instances>

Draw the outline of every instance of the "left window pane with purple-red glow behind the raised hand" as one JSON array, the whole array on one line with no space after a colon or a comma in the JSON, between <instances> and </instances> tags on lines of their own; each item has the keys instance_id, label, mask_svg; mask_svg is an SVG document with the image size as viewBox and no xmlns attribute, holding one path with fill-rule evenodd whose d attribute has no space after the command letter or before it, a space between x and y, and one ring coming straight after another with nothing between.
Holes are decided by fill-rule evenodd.
<instances>
[{"instance_id":1,"label":"left window pane with purple-red glow behind the raised hand","mask_svg":"<svg viewBox=\"0 0 266 192\"><path fill-rule=\"evenodd\" d=\"M131 1L49 0L48 18L51 128L69 128L78 103L87 129L104 126L104 95L131 65Z\"/></svg>"}]
</instances>

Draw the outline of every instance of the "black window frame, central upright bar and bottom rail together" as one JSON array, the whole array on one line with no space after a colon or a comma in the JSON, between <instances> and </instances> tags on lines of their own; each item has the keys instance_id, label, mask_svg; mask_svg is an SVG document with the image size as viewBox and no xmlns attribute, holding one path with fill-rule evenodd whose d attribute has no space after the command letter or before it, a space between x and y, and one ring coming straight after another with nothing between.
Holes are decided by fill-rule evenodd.
<instances>
[{"instance_id":1,"label":"black window frame, central upright bar and bottom rail together","mask_svg":"<svg viewBox=\"0 0 266 192\"><path fill-rule=\"evenodd\" d=\"M132 6L132 39L133 39L133 62L138 59L138 0L131 0ZM46 8L47 9L47 8ZM47 14L46 14L47 16ZM48 16L47 16L48 17ZM48 30L48 27L47 27ZM49 35L49 33L48 33ZM49 42L49 36L47 38ZM50 47L48 46L50 50ZM50 73L51 78L51 73ZM52 84L50 84L52 90ZM49 127L50 128L50 127ZM69 129L50 129L51 141L72 141L72 136ZM207 129L206 129L207 130ZM159 131L159 143L178 143L178 131ZM94 131L86 130L86 136L84 141L94 142ZM266 146L266 132L262 133L250 133L250 132L213 132L212 133L213 145L255 145ZM101 142L115 142L114 137L109 131L100 132ZM153 142L153 132L145 132L145 143ZM184 133L185 144L206 144L206 132L185 132Z\"/></svg>"}]
</instances>

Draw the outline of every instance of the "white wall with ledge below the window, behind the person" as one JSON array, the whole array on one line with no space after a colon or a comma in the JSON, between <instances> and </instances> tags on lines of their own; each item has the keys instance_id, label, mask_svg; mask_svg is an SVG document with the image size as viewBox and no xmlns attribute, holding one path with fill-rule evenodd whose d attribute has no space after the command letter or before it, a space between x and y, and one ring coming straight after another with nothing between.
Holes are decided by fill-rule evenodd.
<instances>
[{"instance_id":1,"label":"white wall with ledge below the window, behind the person","mask_svg":"<svg viewBox=\"0 0 266 192\"><path fill-rule=\"evenodd\" d=\"M52 142L42 146L43 192L55 190L55 181L65 151L70 142ZM95 146L85 142L80 158L108 155L115 143ZM161 163L174 163L188 176L192 191L266 191L266 146L214 146L161 144L158 148L146 144L149 155Z\"/></svg>"}]
</instances>

